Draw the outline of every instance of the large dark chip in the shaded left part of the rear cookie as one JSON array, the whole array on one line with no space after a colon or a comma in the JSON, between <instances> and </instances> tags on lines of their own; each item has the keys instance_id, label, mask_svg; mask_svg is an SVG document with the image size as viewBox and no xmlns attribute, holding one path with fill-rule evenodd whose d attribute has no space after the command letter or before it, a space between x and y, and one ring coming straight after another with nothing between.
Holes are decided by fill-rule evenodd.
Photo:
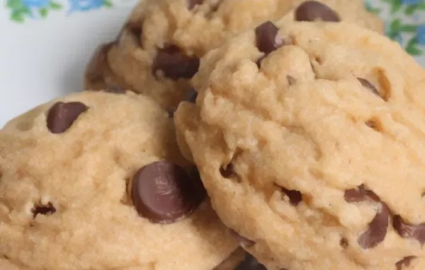
<instances>
[{"instance_id":1,"label":"large dark chip in the shaded left part of the rear cookie","mask_svg":"<svg viewBox=\"0 0 425 270\"><path fill-rule=\"evenodd\" d=\"M152 64L152 72L161 70L164 76L172 80L179 78L192 78L199 69L198 57L190 57L184 54L179 47L169 45L164 49L158 49L157 57Z\"/></svg>"}]
</instances>

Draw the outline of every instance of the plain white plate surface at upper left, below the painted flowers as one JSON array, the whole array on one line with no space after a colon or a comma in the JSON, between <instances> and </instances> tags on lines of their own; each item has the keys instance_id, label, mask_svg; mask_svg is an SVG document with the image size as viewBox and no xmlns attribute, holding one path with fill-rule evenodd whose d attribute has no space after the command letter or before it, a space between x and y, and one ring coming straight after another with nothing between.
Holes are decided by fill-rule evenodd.
<instances>
[{"instance_id":1,"label":"plain white plate surface at upper left, below the painted flowers","mask_svg":"<svg viewBox=\"0 0 425 270\"><path fill-rule=\"evenodd\" d=\"M28 2L37 1L45 0ZM35 18L26 14L21 23L0 6L0 127L35 105L81 90L87 60L117 35L134 4L69 12L66 1L57 3L62 9L40 18L45 11L34 8Z\"/></svg>"}]
</instances>

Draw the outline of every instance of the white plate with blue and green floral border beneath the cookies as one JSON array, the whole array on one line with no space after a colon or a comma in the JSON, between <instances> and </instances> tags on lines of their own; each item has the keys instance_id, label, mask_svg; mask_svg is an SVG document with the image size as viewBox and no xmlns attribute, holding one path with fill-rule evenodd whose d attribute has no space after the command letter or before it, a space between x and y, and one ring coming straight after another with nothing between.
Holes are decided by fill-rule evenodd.
<instances>
[{"instance_id":1,"label":"white plate with blue and green floral border beneath the cookies","mask_svg":"<svg viewBox=\"0 0 425 270\"><path fill-rule=\"evenodd\" d=\"M35 105L81 90L86 61L97 45L115 37L134 4L135 0L4 0L0 127ZM368 6L385 18L387 33L425 64L425 47L420 45L425 45L425 1L370 0Z\"/></svg>"}]
</instances>

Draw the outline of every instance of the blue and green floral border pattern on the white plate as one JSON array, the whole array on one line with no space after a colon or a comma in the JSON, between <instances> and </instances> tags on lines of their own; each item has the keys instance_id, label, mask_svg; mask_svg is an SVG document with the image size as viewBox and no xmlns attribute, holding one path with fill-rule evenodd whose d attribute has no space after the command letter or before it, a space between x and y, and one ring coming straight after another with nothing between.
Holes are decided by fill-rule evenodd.
<instances>
[{"instance_id":1,"label":"blue and green floral border pattern on the white plate","mask_svg":"<svg viewBox=\"0 0 425 270\"><path fill-rule=\"evenodd\" d=\"M131 0L135 4L136 0ZM243 0L234 0L243 1ZM10 20L28 23L48 20L50 13L72 16L75 12L117 8L128 1L119 0L6 0ZM425 0L366 0L369 11L385 20L386 34L397 40L414 57L425 52ZM425 60L425 59L422 59Z\"/></svg>"}]
</instances>

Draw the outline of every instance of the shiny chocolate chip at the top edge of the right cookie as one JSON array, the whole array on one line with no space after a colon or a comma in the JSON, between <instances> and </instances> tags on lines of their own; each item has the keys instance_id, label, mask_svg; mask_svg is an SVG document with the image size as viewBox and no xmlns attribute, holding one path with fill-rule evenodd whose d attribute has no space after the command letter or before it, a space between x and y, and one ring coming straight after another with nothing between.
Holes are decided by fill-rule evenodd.
<instances>
[{"instance_id":1,"label":"shiny chocolate chip at the top edge of the right cookie","mask_svg":"<svg viewBox=\"0 0 425 270\"><path fill-rule=\"evenodd\" d=\"M256 47L260 52L270 54L283 45L283 40L278 35L279 28L271 21L266 21L255 28Z\"/></svg>"}]
</instances>

